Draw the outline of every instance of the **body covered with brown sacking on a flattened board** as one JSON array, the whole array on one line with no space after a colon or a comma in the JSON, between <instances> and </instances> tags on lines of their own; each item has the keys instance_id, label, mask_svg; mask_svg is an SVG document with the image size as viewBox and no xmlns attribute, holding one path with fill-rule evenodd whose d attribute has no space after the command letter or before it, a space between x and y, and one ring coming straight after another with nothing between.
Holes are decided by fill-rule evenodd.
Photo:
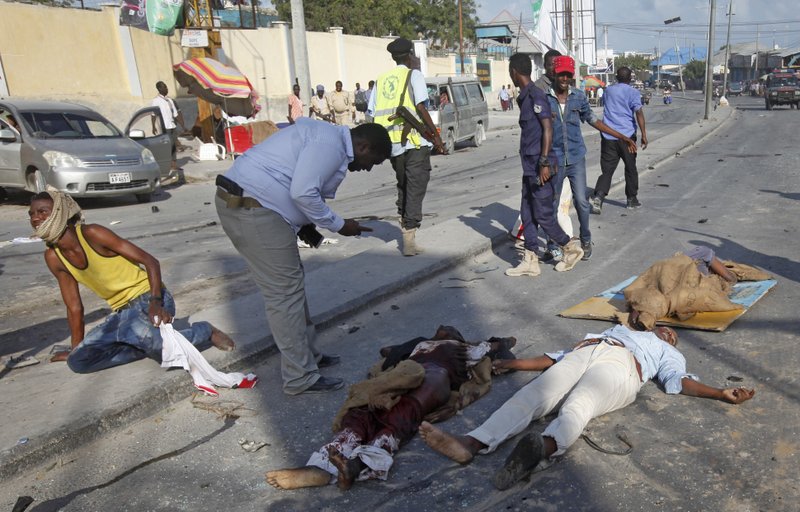
<instances>
[{"instance_id":1,"label":"body covered with brown sacking on a flattened board","mask_svg":"<svg viewBox=\"0 0 800 512\"><path fill-rule=\"evenodd\" d=\"M651 330L666 316L687 320L701 312L742 309L729 299L732 286L770 277L757 268L719 260L710 248L697 246L657 261L625 288L629 323Z\"/></svg>"}]
</instances>

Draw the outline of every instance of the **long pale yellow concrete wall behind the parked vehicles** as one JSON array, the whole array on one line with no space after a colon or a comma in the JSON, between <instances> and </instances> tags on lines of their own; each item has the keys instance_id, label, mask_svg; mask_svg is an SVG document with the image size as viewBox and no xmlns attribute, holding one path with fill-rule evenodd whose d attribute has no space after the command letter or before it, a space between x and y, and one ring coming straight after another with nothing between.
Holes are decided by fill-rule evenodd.
<instances>
[{"instance_id":1,"label":"long pale yellow concrete wall behind the parked vehicles","mask_svg":"<svg viewBox=\"0 0 800 512\"><path fill-rule=\"evenodd\" d=\"M257 30L221 31L220 60L242 71L261 96L261 119L283 122L296 76L291 28L277 23ZM388 40L329 32L307 32L312 87L333 90L337 80L352 91L394 62ZM118 126L156 95L163 80L179 97L186 121L196 115L193 99L175 82L172 66L189 57L180 31L171 37L119 26L119 10L64 9L0 0L0 58L12 97L64 99L89 105ZM455 56L429 57L428 75L454 75ZM507 67L492 67L492 87L507 82ZM498 78L502 76L502 78ZM496 96L496 94L495 94ZM489 95L491 98L491 95Z\"/></svg>"}]
</instances>

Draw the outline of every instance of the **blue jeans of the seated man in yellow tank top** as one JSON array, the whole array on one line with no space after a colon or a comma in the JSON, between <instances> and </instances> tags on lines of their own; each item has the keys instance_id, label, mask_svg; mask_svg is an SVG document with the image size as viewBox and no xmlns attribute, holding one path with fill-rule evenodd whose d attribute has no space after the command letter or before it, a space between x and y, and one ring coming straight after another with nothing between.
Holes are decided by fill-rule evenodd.
<instances>
[{"instance_id":1,"label":"blue jeans of the seated man in yellow tank top","mask_svg":"<svg viewBox=\"0 0 800 512\"><path fill-rule=\"evenodd\" d=\"M175 315L175 301L165 289L161 296L164 309ZM149 357L161 362L161 331L148 316L150 293L143 293L114 311L105 321L89 331L72 349L67 364L75 373L92 373ZM179 331L192 345L211 339L211 324L197 322Z\"/></svg>"}]
</instances>

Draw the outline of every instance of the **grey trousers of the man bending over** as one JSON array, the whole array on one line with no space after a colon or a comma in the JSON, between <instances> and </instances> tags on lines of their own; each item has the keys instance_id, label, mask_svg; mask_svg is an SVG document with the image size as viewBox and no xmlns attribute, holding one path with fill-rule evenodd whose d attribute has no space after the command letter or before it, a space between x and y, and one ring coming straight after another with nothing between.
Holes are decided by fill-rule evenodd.
<instances>
[{"instance_id":1,"label":"grey trousers of the man bending over","mask_svg":"<svg viewBox=\"0 0 800 512\"><path fill-rule=\"evenodd\" d=\"M320 378L316 330L308 312L305 273L292 227L267 208L228 208L214 199L222 229L250 268L264 296L275 345L281 352L283 390L295 395Z\"/></svg>"}]
</instances>

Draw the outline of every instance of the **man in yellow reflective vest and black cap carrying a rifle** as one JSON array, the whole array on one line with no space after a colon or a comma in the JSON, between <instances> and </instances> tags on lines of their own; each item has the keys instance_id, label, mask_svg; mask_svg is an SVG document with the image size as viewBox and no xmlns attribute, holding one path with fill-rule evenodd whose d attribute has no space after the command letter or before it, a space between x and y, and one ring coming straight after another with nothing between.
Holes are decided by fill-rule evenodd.
<instances>
[{"instance_id":1,"label":"man in yellow reflective vest and black cap carrying a rifle","mask_svg":"<svg viewBox=\"0 0 800 512\"><path fill-rule=\"evenodd\" d=\"M425 102L428 86L419 71L419 60L414 56L414 45L408 39L398 38L386 46L397 67L381 74L370 96L368 111L375 122L384 126L392 139L392 167L397 177L397 213L403 233L403 256L422 252L417 246L416 232L422 223L422 201L431 174L431 146L446 153L442 139L431 120ZM398 107L405 107L433 135L433 140L396 116Z\"/></svg>"}]
</instances>

